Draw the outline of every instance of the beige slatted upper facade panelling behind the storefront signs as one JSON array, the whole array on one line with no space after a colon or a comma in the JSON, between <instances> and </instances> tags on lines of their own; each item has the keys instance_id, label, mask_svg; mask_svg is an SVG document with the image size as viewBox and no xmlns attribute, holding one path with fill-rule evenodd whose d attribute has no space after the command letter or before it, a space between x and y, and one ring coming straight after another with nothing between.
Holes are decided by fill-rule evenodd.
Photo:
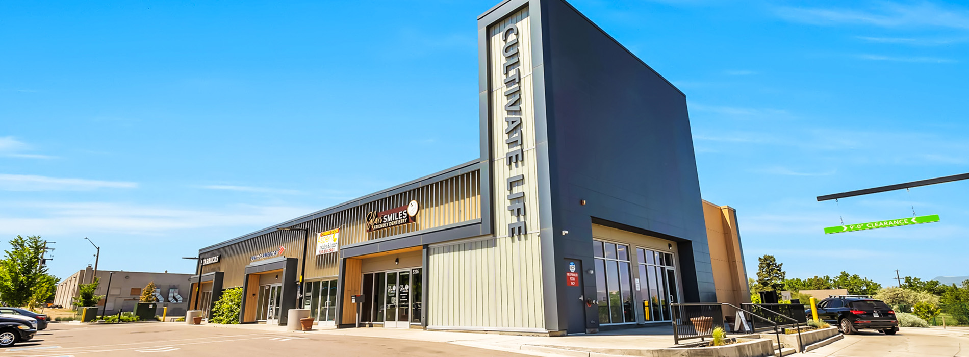
<instances>
[{"instance_id":1,"label":"beige slatted upper facade panelling behind the storefront signs","mask_svg":"<svg viewBox=\"0 0 969 357\"><path fill-rule=\"evenodd\" d=\"M478 171L458 175L422 185L391 197L367 203L344 211L338 211L311 221L298 224L308 228L307 261L305 280L331 277L338 274L338 253L316 255L316 235L331 229L340 229L340 246L377 240L394 235L440 227L443 225L481 218L477 205L481 202L481 173ZM366 232L364 225L368 211L386 211L406 206L411 200L418 201L421 210L415 223L409 223ZM465 213L468 212L468 213ZM241 286L245 266L262 260L250 257L267 251L286 247L283 256L302 258L303 231L275 231L203 254L204 257L222 254L219 263L203 267L203 274L225 272L223 286Z\"/></svg>"}]
</instances>

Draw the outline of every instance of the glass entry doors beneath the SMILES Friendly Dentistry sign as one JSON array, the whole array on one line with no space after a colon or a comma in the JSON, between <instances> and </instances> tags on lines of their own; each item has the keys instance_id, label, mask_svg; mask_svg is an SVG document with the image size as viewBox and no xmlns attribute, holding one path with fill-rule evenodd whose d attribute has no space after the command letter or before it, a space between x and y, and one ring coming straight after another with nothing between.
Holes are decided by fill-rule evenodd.
<instances>
[{"instance_id":1,"label":"glass entry doors beneath the SMILES Friendly Dentistry sign","mask_svg":"<svg viewBox=\"0 0 969 357\"><path fill-rule=\"evenodd\" d=\"M364 305L364 322L395 328L421 323L421 278L421 269L364 275L363 295L371 301Z\"/></svg>"}]
</instances>

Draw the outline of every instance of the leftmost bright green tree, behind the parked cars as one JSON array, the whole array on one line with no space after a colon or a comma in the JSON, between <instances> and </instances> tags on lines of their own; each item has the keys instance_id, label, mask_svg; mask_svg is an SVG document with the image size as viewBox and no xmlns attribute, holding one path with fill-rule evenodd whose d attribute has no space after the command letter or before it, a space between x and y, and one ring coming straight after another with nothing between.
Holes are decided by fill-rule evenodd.
<instances>
[{"instance_id":1,"label":"leftmost bright green tree, behind the parked cars","mask_svg":"<svg viewBox=\"0 0 969 357\"><path fill-rule=\"evenodd\" d=\"M0 300L23 307L34 298L35 289L44 288L41 283L49 281L47 266L41 263L44 242L40 236L16 236L10 245L0 261Z\"/></svg>"}]
</instances>

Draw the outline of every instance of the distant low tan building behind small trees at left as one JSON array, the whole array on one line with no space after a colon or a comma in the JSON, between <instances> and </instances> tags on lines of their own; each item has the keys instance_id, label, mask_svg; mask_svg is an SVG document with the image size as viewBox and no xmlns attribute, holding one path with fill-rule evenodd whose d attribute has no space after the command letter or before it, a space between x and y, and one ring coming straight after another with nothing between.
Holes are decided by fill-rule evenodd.
<instances>
[{"instance_id":1,"label":"distant low tan building behind small trees at left","mask_svg":"<svg viewBox=\"0 0 969 357\"><path fill-rule=\"evenodd\" d=\"M114 276L111 276L111 273ZM119 311L134 311L135 305L141 298L141 289L148 282L154 281L155 298L158 299L159 311L162 308L169 308L169 315L184 315L188 308L188 297L185 296L189 288L190 274L172 273L142 273L124 271L97 271L94 272L91 266L78 271L72 276L61 280L57 284L57 292L54 293L54 305L64 308L73 307L78 298L79 284L88 284L98 277L98 288L94 295L104 296L98 303L99 307L104 308L104 314L114 314ZM110 291L108 282L110 280ZM100 311L99 311L100 313ZM161 313L161 312L159 312Z\"/></svg>"}]
</instances>

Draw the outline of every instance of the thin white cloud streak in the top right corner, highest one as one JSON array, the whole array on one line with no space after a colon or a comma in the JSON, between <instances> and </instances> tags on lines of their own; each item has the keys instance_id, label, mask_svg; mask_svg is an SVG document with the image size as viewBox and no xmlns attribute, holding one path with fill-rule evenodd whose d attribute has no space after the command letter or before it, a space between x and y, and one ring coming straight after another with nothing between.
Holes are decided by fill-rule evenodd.
<instances>
[{"instance_id":1,"label":"thin white cloud streak in the top right corner, highest one","mask_svg":"<svg viewBox=\"0 0 969 357\"><path fill-rule=\"evenodd\" d=\"M869 9L782 7L776 13L791 21L818 25L969 29L969 10L966 8L943 7L927 1L910 4L883 1L874 4Z\"/></svg>"}]
</instances>

